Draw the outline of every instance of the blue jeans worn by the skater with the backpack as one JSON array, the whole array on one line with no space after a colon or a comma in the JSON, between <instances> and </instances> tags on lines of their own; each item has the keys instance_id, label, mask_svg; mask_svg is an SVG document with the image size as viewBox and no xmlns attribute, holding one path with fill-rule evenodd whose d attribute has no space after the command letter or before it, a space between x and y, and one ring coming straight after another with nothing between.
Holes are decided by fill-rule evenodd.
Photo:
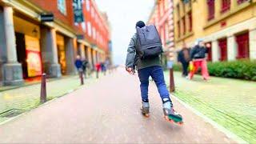
<instances>
[{"instance_id":1,"label":"blue jeans worn by the skater with the backpack","mask_svg":"<svg viewBox=\"0 0 256 144\"><path fill-rule=\"evenodd\" d=\"M169 91L166 88L166 82L163 75L162 66L150 66L144 69L138 70L138 78L141 82L141 94L142 101L148 100L148 88L149 88L149 78L153 78L155 84L158 86L158 93L160 97L170 98Z\"/></svg>"}]
</instances>

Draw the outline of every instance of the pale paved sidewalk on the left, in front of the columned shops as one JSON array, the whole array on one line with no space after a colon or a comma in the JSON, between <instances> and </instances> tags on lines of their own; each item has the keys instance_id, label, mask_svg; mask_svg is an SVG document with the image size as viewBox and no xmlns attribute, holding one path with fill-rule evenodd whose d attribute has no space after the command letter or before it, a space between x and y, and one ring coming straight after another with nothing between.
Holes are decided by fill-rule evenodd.
<instances>
[{"instance_id":1,"label":"pale paved sidewalk on the left, in front of the columned shops","mask_svg":"<svg viewBox=\"0 0 256 144\"><path fill-rule=\"evenodd\" d=\"M94 74L95 75L95 74ZM93 76L94 76L93 75ZM85 85L95 82L96 78L85 79ZM64 78L47 79L46 91L47 100L61 97L80 87L80 79L76 76L66 76ZM0 122L14 117L27 110L31 110L40 105L41 83L37 82L29 86L21 86L0 92Z\"/></svg>"}]
</instances>

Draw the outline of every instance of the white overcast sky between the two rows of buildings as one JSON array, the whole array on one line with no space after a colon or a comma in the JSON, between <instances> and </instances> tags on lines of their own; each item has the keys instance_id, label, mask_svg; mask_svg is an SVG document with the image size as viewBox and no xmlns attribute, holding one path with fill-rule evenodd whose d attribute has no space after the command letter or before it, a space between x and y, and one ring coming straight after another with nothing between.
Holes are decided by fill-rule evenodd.
<instances>
[{"instance_id":1,"label":"white overcast sky between the two rows of buildings","mask_svg":"<svg viewBox=\"0 0 256 144\"><path fill-rule=\"evenodd\" d=\"M138 20L147 22L154 0L95 0L99 10L106 11L112 28L113 60L124 64L130 38Z\"/></svg>"}]
</instances>

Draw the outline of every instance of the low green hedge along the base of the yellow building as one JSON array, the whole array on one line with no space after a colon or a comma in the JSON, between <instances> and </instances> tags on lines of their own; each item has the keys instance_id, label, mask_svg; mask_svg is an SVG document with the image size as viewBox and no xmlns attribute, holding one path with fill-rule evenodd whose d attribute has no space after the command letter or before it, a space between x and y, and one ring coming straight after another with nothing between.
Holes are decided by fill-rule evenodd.
<instances>
[{"instance_id":1,"label":"low green hedge along the base of the yellow building","mask_svg":"<svg viewBox=\"0 0 256 144\"><path fill-rule=\"evenodd\" d=\"M207 65L212 76L256 81L256 61L208 62ZM175 65L174 70L180 71L182 66Z\"/></svg>"}]
</instances>

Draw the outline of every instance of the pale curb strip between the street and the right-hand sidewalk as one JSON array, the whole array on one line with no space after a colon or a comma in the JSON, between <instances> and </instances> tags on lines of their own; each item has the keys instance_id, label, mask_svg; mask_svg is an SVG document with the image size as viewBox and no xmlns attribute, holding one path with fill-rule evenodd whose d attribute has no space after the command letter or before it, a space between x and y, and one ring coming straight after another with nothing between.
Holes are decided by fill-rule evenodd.
<instances>
[{"instance_id":1,"label":"pale curb strip between the street and the right-hand sidewalk","mask_svg":"<svg viewBox=\"0 0 256 144\"><path fill-rule=\"evenodd\" d=\"M227 130L225 127L219 125L217 122L214 122L212 119L206 117L204 114L200 113L198 110L195 110L193 107L189 106L185 102L183 102L181 99L176 97L174 94L170 94L171 98L174 98L178 102L180 102L183 106L185 106L188 110L191 110L194 114L197 114L199 117L201 117L205 122L210 123L214 128L220 130L223 134L226 134L228 138L234 139L234 141L238 143L248 143L242 138L238 137L236 134L230 132L230 130Z\"/></svg>"}]
</instances>

